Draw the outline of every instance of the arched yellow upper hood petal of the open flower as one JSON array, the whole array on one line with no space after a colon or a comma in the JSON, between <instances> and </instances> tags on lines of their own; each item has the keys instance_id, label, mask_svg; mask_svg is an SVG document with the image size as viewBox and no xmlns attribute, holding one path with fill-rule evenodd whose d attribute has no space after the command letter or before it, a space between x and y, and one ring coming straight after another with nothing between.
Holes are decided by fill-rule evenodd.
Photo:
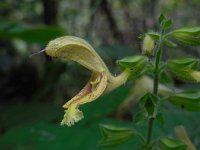
<instances>
[{"instance_id":1,"label":"arched yellow upper hood petal of the open flower","mask_svg":"<svg viewBox=\"0 0 200 150\"><path fill-rule=\"evenodd\" d=\"M64 36L50 41L45 52L52 57L76 61L94 72L107 70L103 60L92 46L75 36Z\"/></svg>"}]
</instances>

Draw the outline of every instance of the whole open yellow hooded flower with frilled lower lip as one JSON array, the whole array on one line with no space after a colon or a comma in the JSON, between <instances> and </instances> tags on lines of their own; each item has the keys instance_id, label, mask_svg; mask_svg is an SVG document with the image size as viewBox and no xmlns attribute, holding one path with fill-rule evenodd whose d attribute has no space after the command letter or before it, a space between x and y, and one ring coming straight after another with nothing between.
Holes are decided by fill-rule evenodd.
<instances>
[{"instance_id":1,"label":"whole open yellow hooded flower with frilled lower lip","mask_svg":"<svg viewBox=\"0 0 200 150\"><path fill-rule=\"evenodd\" d=\"M100 95L124 84L129 76L125 69L119 76L113 76L101 57L85 40L64 36L52 40L45 48L47 55L72 60L92 71L92 76L85 87L71 100L63 105L65 110L61 125L71 126L84 116L78 109L80 105L96 100Z\"/></svg>"}]
</instances>

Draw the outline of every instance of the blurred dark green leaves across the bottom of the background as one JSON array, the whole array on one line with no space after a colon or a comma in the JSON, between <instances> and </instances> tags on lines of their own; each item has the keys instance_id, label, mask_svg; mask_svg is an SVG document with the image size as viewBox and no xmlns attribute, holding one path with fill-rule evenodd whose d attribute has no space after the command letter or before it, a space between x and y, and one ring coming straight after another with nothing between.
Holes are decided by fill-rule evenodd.
<instances>
[{"instance_id":1,"label":"blurred dark green leaves across the bottom of the background","mask_svg":"<svg viewBox=\"0 0 200 150\"><path fill-rule=\"evenodd\" d=\"M128 91L129 88L122 87L93 103L83 106L85 118L79 124L70 128L59 125L63 111L53 103L31 102L1 106L0 128L9 130L0 137L0 149L120 150L136 148L139 142L137 140L131 140L114 148L98 146L101 139L99 124L116 124L127 127L133 125L130 122L116 120L111 117L122 99L127 96ZM194 144L198 143L200 139L198 134L200 132L200 120L198 116L199 113L175 110L166 105L164 111L165 124L163 127L156 125L155 136L162 137L165 134L172 136L171 131L174 130L174 127L184 124ZM134 125L134 127L144 133L144 125Z\"/></svg>"}]
</instances>

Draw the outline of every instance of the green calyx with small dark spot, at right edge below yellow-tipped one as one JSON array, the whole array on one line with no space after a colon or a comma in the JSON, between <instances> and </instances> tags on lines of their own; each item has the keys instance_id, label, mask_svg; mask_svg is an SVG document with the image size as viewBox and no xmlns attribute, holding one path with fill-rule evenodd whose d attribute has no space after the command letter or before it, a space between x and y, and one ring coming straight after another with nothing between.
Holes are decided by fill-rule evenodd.
<instances>
[{"instance_id":1,"label":"green calyx with small dark spot, at right edge below yellow-tipped one","mask_svg":"<svg viewBox=\"0 0 200 150\"><path fill-rule=\"evenodd\" d=\"M188 111L200 111L200 91L184 91L169 97L173 105Z\"/></svg>"}]
</instances>

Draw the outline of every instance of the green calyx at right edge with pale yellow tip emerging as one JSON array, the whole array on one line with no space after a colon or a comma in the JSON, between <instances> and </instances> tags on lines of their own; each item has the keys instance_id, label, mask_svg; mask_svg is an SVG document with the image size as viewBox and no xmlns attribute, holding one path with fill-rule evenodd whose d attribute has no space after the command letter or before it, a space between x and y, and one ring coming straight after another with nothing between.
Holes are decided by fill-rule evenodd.
<instances>
[{"instance_id":1,"label":"green calyx at right edge with pale yellow tip emerging","mask_svg":"<svg viewBox=\"0 0 200 150\"><path fill-rule=\"evenodd\" d=\"M197 70L198 64L198 59L181 58L169 60L167 67L182 80L200 82L200 72Z\"/></svg>"}]
</instances>

